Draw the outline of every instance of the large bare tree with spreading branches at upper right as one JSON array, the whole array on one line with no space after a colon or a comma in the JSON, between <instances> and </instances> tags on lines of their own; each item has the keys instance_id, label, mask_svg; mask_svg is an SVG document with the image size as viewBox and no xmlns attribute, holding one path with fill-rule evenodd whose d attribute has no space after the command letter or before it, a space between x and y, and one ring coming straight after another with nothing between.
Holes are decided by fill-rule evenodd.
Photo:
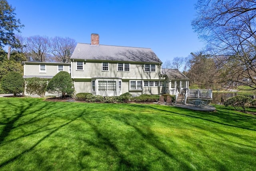
<instances>
[{"instance_id":1,"label":"large bare tree with spreading branches at upper right","mask_svg":"<svg viewBox=\"0 0 256 171\"><path fill-rule=\"evenodd\" d=\"M206 40L220 79L256 89L256 1L198 0L196 9L192 26Z\"/></svg>"}]
</instances>

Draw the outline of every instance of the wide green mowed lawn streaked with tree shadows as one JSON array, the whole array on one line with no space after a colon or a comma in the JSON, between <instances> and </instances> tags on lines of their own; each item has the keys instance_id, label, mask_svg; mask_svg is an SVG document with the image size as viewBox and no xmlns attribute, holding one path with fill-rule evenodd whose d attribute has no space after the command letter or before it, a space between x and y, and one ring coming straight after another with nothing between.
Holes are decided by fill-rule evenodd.
<instances>
[{"instance_id":1,"label":"wide green mowed lawn streaked with tree shadows","mask_svg":"<svg viewBox=\"0 0 256 171\"><path fill-rule=\"evenodd\" d=\"M0 170L255 170L256 116L215 107L1 97Z\"/></svg>"}]
</instances>

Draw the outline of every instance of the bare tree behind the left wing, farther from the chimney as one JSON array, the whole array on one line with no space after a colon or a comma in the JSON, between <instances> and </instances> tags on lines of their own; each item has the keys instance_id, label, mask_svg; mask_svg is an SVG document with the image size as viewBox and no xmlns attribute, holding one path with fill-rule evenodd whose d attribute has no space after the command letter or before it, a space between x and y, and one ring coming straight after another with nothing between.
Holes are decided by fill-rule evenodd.
<instances>
[{"instance_id":1,"label":"bare tree behind the left wing, farther from the chimney","mask_svg":"<svg viewBox=\"0 0 256 171\"><path fill-rule=\"evenodd\" d=\"M48 62L50 40L47 36L30 36L26 39L26 51L30 60Z\"/></svg>"}]
</instances>

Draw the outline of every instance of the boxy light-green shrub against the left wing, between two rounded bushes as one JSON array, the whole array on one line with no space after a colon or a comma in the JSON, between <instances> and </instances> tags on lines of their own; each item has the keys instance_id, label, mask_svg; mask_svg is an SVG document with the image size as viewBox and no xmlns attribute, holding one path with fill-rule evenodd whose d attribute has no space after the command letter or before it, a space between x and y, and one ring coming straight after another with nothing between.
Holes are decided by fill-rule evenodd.
<instances>
[{"instance_id":1,"label":"boxy light-green shrub against the left wing, between two rounded bushes","mask_svg":"<svg viewBox=\"0 0 256 171\"><path fill-rule=\"evenodd\" d=\"M26 79L26 92L44 97L48 81L45 78L32 77Z\"/></svg>"}]
</instances>

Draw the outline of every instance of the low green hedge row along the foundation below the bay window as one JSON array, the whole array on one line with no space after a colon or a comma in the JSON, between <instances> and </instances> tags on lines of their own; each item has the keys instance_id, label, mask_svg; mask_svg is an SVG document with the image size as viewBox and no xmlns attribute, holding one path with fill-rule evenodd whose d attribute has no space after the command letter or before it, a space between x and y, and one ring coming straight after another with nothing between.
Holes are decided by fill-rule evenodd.
<instances>
[{"instance_id":1,"label":"low green hedge row along the foundation below the bay window","mask_svg":"<svg viewBox=\"0 0 256 171\"><path fill-rule=\"evenodd\" d=\"M76 94L76 100L86 101L86 102L104 102L104 103L114 103L114 102L156 102L159 100L159 95L148 95L142 94L140 96L132 97L131 93L124 93L120 96L107 96L103 97L101 95L92 95L92 93L78 93Z\"/></svg>"}]
</instances>

